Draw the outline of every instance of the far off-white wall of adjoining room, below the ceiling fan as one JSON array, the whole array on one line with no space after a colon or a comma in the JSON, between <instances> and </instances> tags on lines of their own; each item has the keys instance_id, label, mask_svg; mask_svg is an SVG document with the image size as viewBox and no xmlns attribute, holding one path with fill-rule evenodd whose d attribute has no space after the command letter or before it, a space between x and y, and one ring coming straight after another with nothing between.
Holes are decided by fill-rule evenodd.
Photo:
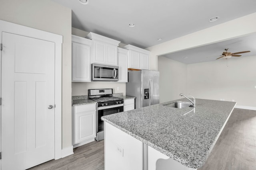
<instances>
[{"instance_id":1,"label":"far off-white wall of adjoining room, below the ceiling fan","mask_svg":"<svg viewBox=\"0 0 256 170\"><path fill-rule=\"evenodd\" d=\"M256 56L188 64L188 92L196 98L235 100L238 106L256 107L255 64Z\"/></svg>"}]
</instances>

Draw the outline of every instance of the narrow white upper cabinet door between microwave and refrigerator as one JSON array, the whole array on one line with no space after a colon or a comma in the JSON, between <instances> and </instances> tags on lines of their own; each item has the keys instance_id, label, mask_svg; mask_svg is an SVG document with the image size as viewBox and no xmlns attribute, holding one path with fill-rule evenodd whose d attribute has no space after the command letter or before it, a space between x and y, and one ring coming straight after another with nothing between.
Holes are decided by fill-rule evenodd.
<instances>
[{"instance_id":1,"label":"narrow white upper cabinet door between microwave and refrigerator","mask_svg":"<svg viewBox=\"0 0 256 170\"><path fill-rule=\"evenodd\" d=\"M118 53L118 64L119 64L118 82L128 82L127 58L128 58L127 54Z\"/></svg>"}]
</instances>

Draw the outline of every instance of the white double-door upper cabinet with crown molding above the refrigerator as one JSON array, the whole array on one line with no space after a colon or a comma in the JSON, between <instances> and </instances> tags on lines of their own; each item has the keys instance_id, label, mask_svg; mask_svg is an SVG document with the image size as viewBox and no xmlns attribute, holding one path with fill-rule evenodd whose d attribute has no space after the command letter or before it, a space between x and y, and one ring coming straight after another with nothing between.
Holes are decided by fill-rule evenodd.
<instances>
[{"instance_id":1,"label":"white double-door upper cabinet with crown molding above the refrigerator","mask_svg":"<svg viewBox=\"0 0 256 170\"><path fill-rule=\"evenodd\" d=\"M126 45L123 48L128 49L128 68L149 70L150 51L133 45Z\"/></svg>"}]
</instances>

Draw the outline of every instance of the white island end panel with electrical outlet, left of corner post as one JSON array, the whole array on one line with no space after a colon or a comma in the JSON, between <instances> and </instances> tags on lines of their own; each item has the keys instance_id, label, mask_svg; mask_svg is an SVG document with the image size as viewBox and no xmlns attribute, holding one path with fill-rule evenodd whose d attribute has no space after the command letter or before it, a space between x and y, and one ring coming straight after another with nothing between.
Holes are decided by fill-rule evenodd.
<instances>
[{"instance_id":1,"label":"white island end panel with electrical outlet, left of corner post","mask_svg":"<svg viewBox=\"0 0 256 170\"><path fill-rule=\"evenodd\" d=\"M105 122L105 170L143 170L142 142Z\"/></svg>"}]
</instances>

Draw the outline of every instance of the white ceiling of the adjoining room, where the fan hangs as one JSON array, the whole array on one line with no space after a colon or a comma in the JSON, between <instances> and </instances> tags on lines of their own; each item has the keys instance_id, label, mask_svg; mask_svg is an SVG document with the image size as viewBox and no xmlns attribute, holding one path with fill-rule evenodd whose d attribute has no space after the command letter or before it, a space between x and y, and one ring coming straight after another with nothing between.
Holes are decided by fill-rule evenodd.
<instances>
[{"instance_id":1,"label":"white ceiling of the adjoining room, where the fan hangs","mask_svg":"<svg viewBox=\"0 0 256 170\"><path fill-rule=\"evenodd\" d=\"M162 56L185 64L202 63L208 61L216 61L216 59L219 58L220 55L222 55L222 53L225 51L224 49L226 48L228 48L228 52L231 53L236 53L240 51L251 51L250 53L239 54L242 55L241 57L256 56L256 33L246 35L244 37L204 45L201 47L195 47L192 49L169 53ZM228 60L237 58L238 57L231 57ZM221 58L218 60L225 59Z\"/></svg>"}]
</instances>

